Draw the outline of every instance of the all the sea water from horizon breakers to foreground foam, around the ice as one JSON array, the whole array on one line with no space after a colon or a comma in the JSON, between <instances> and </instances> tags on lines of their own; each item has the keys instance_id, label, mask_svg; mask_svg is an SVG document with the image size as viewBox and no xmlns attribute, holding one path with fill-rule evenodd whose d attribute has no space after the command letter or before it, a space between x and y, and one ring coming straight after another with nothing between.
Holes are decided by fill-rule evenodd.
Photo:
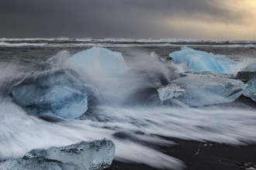
<instances>
[{"instance_id":1,"label":"all the sea water from horizon breakers to foreground foam, around the ice","mask_svg":"<svg viewBox=\"0 0 256 170\"><path fill-rule=\"evenodd\" d=\"M94 104L89 109L89 118L45 121L26 114L12 101L10 90L13 85L31 73L56 69L47 66L47 59L53 56L66 58L92 46L122 53L127 66L136 71L100 86L100 92L106 93L107 101ZM157 88L168 84L175 75L150 60L150 53L154 51L159 56L167 57L182 46L222 54L238 62L256 61L256 42L0 39L0 159L19 158L33 148L107 138L116 145L116 160L178 169L184 165L182 160L151 147L175 145L162 137L230 145L255 144L256 107L236 103L189 107L178 101L166 104L157 100Z\"/></svg>"}]
</instances>

